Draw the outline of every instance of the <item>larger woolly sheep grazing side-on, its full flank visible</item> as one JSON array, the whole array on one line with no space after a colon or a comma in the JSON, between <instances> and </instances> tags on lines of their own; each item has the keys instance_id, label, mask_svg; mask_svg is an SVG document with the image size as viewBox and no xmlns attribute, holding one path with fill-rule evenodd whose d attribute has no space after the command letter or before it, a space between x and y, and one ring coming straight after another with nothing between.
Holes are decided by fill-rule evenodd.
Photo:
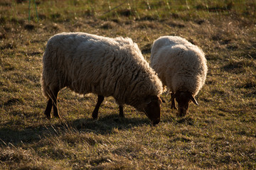
<instances>
[{"instance_id":1,"label":"larger woolly sheep grazing side-on, its full flank visible","mask_svg":"<svg viewBox=\"0 0 256 170\"><path fill-rule=\"evenodd\" d=\"M105 97L113 96L124 117L123 105L142 111L156 125L160 121L161 80L130 38L105 38L88 33L53 35L43 54L41 86L48 98L44 114L60 118L58 92L67 87L77 94L97 94L92 118L97 119Z\"/></svg>"}]
</instances>

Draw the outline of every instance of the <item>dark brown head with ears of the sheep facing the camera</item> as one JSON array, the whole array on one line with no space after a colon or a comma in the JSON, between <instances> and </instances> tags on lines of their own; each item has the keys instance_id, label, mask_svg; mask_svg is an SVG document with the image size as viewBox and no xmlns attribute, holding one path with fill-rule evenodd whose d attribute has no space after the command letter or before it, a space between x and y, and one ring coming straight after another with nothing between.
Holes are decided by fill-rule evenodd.
<instances>
[{"instance_id":1,"label":"dark brown head with ears of the sheep facing the camera","mask_svg":"<svg viewBox=\"0 0 256 170\"><path fill-rule=\"evenodd\" d=\"M171 99L173 98L176 98L176 101L178 102L178 116L184 116L186 113L188 113L188 107L191 101L198 105L196 99L189 91L176 91Z\"/></svg>"}]
</instances>

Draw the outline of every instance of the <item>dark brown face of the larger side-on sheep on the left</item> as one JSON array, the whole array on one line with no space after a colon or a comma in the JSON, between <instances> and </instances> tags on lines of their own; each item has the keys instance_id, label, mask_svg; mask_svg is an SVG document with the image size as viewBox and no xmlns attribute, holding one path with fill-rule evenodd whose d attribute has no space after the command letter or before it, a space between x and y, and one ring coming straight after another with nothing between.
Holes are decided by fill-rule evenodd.
<instances>
[{"instance_id":1,"label":"dark brown face of the larger side-on sheep on the left","mask_svg":"<svg viewBox=\"0 0 256 170\"><path fill-rule=\"evenodd\" d=\"M158 96L149 96L146 98L146 107L144 113L151 120L153 125L160 122L160 111L162 101Z\"/></svg>"}]
</instances>

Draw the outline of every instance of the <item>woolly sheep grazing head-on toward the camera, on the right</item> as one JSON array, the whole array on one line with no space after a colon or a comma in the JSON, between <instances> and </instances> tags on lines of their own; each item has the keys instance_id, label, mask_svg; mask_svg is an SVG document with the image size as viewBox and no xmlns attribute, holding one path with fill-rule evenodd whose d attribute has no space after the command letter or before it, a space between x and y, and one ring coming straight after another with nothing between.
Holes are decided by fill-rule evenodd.
<instances>
[{"instance_id":1,"label":"woolly sheep grazing head-on toward the camera, on the right","mask_svg":"<svg viewBox=\"0 0 256 170\"><path fill-rule=\"evenodd\" d=\"M161 79L164 90L171 91L171 108L178 116L188 112L191 101L198 105L195 96L206 81L208 71L203 51L178 36L162 36L151 47L150 66Z\"/></svg>"}]
</instances>

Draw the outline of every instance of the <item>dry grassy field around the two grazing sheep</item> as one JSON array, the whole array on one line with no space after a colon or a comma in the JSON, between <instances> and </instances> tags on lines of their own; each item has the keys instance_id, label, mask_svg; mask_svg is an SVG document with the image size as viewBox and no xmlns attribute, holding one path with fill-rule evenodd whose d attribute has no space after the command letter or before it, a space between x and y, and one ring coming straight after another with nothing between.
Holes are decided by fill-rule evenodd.
<instances>
[{"instance_id":1,"label":"dry grassy field around the two grazing sheep","mask_svg":"<svg viewBox=\"0 0 256 170\"><path fill-rule=\"evenodd\" d=\"M256 169L255 0L36 0L30 18L28 6L0 0L0 169ZM46 119L43 51L64 31L132 38L147 61L159 36L188 39L208 60L199 106L178 118L164 103L152 127L107 98L92 120L97 97L63 89L63 119Z\"/></svg>"}]
</instances>

